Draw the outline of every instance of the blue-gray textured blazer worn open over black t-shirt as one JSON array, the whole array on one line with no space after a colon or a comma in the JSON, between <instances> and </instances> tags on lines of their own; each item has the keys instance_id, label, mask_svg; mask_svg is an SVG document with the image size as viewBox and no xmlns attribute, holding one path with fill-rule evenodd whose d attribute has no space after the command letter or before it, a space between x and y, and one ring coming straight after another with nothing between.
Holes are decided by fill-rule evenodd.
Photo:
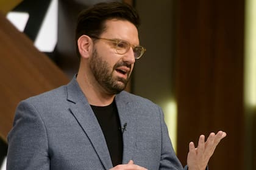
<instances>
[{"instance_id":1,"label":"blue-gray textured blazer worn open over black t-shirt","mask_svg":"<svg viewBox=\"0 0 256 170\"><path fill-rule=\"evenodd\" d=\"M115 97L123 132L123 163L183 169L172 149L160 107L121 92ZM109 125L111 126L111 124ZM101 127L76 78L21 101L8 136L7 170L112 168Z\"/></svg>"}]
</instances>

